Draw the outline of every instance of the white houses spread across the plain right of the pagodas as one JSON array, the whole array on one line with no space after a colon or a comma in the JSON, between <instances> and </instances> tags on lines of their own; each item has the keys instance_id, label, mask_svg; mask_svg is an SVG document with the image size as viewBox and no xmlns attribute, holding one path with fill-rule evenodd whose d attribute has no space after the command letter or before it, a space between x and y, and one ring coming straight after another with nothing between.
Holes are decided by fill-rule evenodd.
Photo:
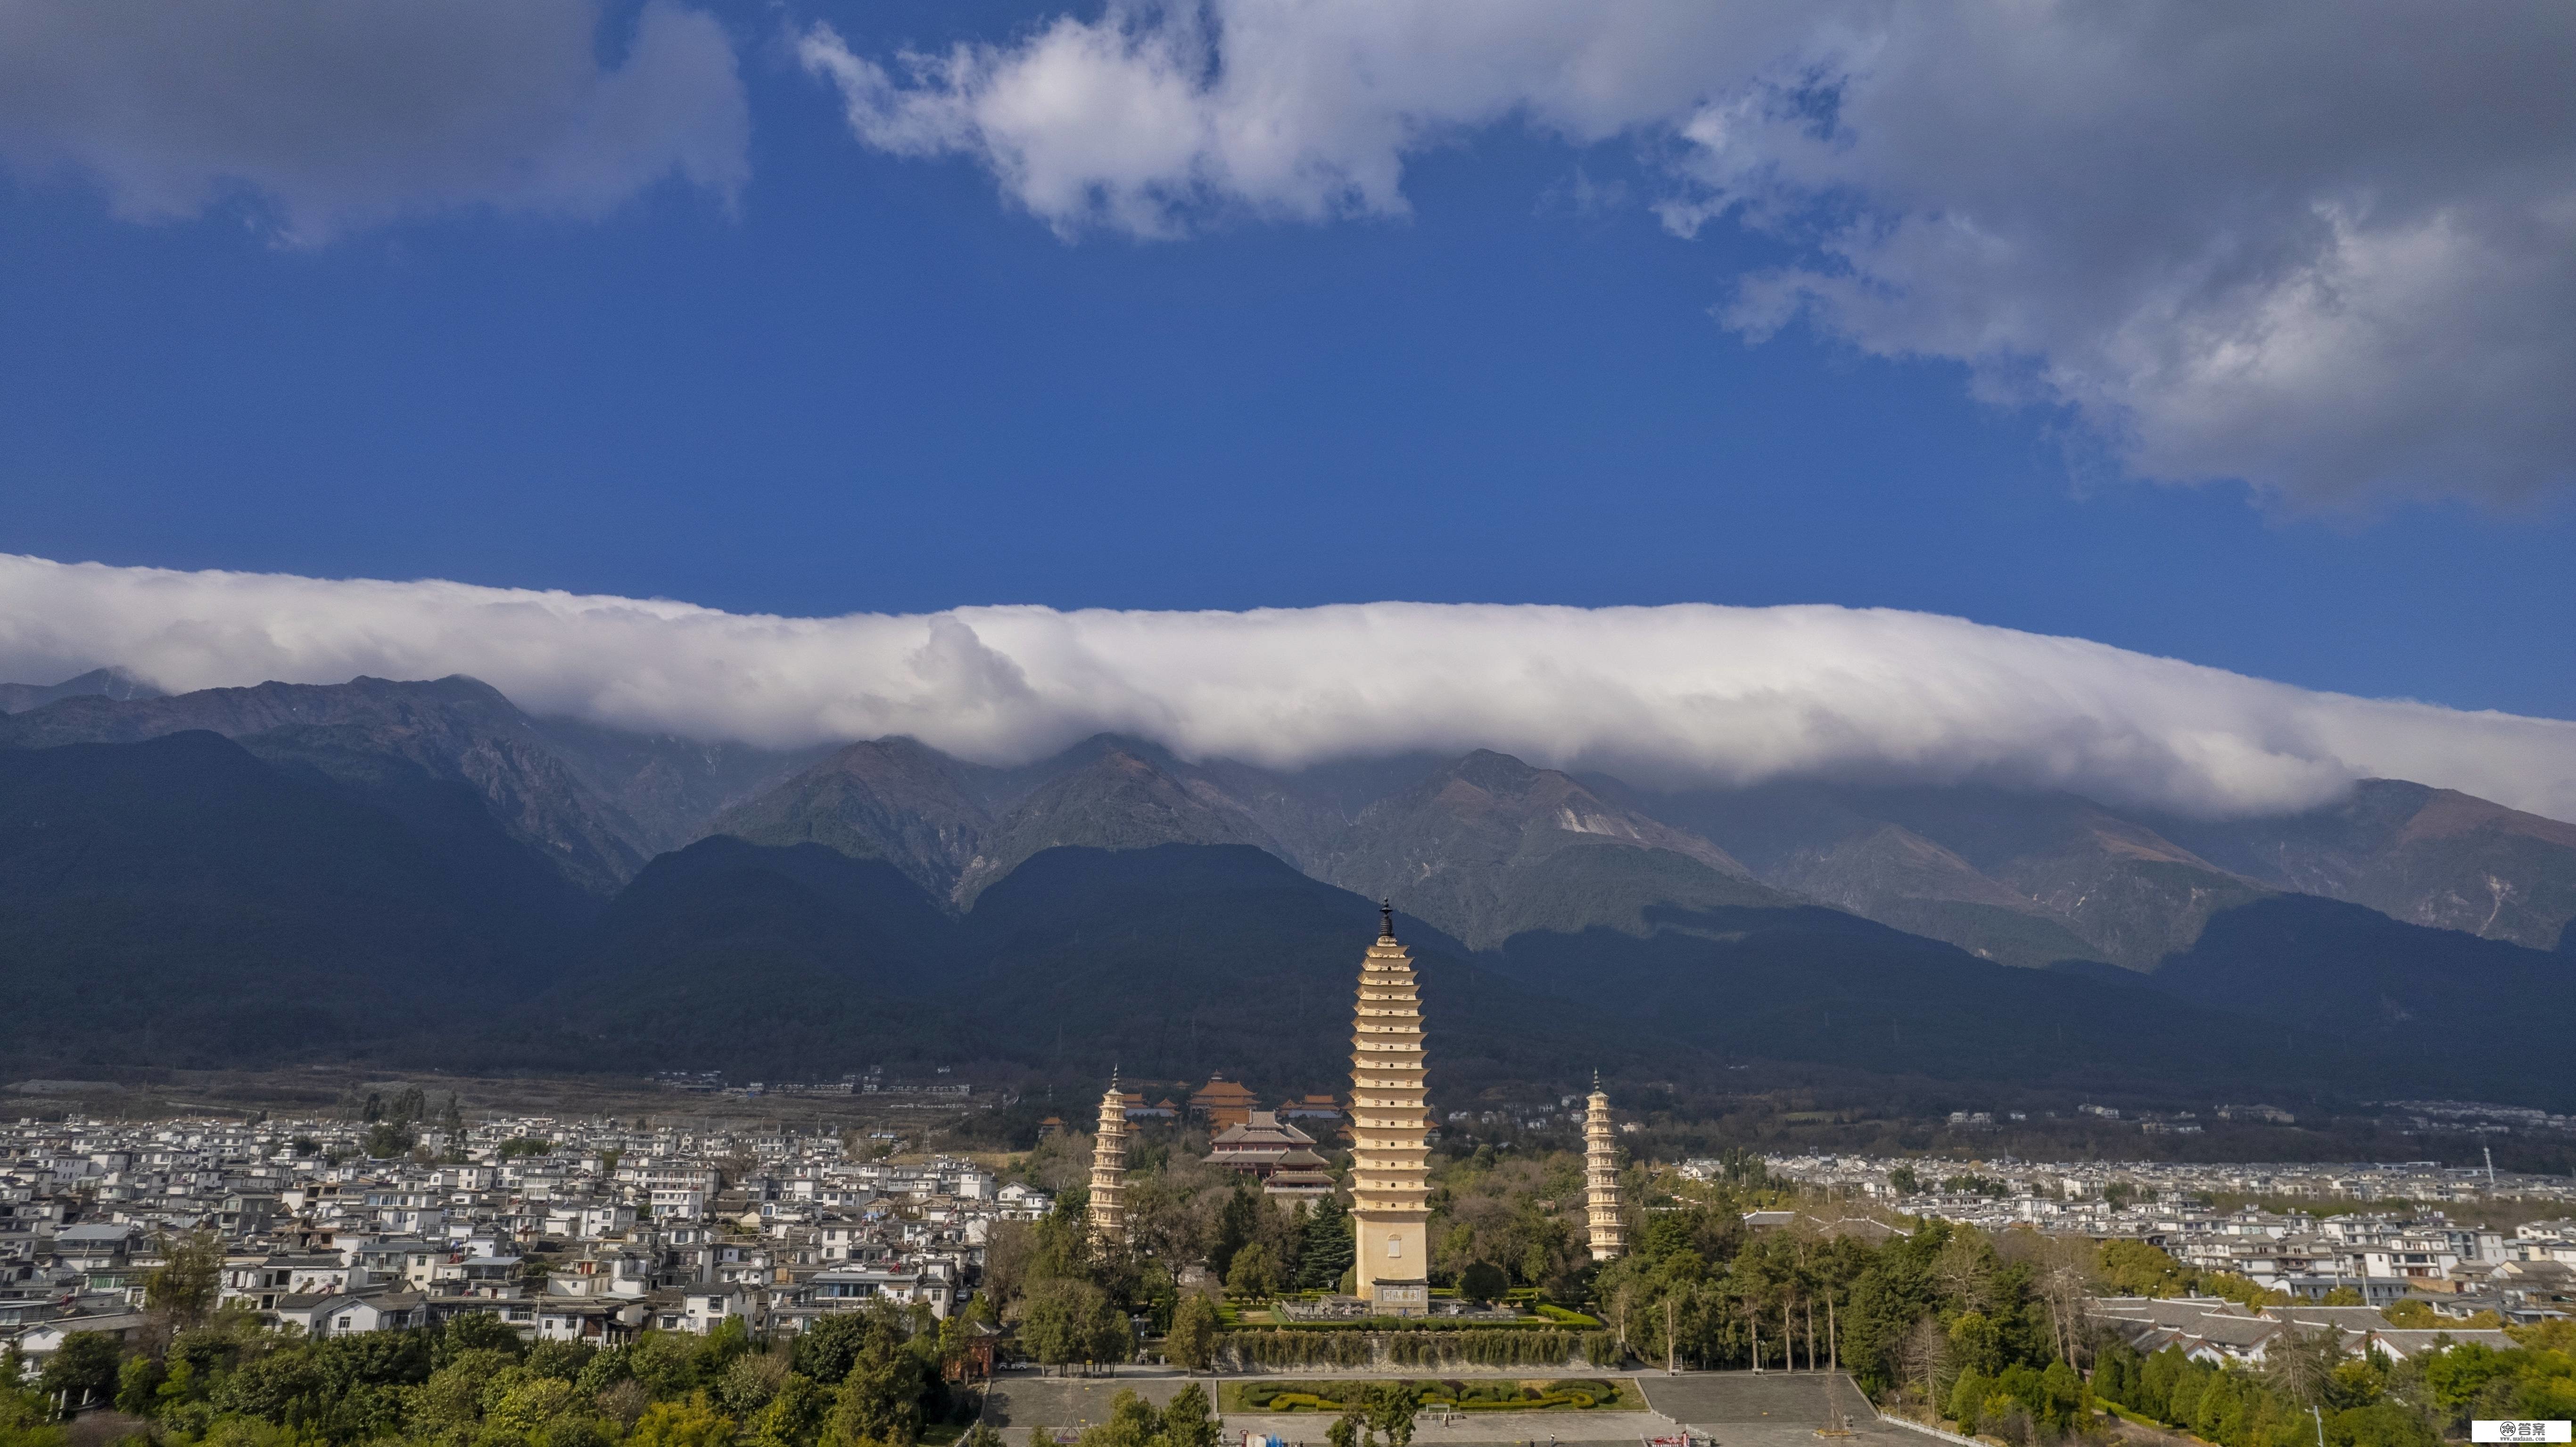
<instances>
[{"instance_id":1,"label":"white houses spread across the plain right of the pagodas","mask_svg":"<svg viewBox=\"0 0 2576 1447\"><path fill-rule=\"evenodd\" d=\"M1837 1195L1883 1200L1909 1215L1984 1231L2032 1228L2094 1241L2146 1241L2202 1272L2233 1272L2293 1303L2349 1293L2375 1313L2421 1300L2437 1318L2543 1321L2576 1316L2576 1213L2514 1228L2450 1220L2445 1210L2213 1210L2213 1195L2473 1202L2514 1197L2543 1210L2576 1205L2576 1182L2496 1177L2434 1164L2396 1166L2190 1166L1942 1164L1873 1156L1780 1156L1777 1177ZM1935 1179L1937 1177L1937 1179ZM1901 1190L1911 1184L1914 1190ZM2228 1331L2244 1331L2228 1326Z\"/></svg>"}]
</instances>

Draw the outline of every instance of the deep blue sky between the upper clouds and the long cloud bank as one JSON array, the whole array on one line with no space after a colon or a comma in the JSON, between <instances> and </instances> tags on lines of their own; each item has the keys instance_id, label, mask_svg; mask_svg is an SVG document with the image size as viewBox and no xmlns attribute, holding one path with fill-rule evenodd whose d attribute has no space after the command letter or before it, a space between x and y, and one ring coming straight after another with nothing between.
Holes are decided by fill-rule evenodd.
<instances>
[{"instance_id":1,"label":"deep blue sky between the upper clouds and the long cloud bank","mask_svg":"<svg viewBox=\"0 0 2576 1447\"><path fill-rule=\"evenodd\" d=\"M1888 605L2576 716L2555 484L2321 499L2262 481L2277 453L2151 481L1940 345L1757 340L1741 278L1814 234L1659 216L1680 126L1450 124L1404 149L1401 214L1247 191L1139 237L1033 214L974 144L871 144L791 51L829 21L889 67L1007 59L1048 15L719 10L732 198L281 237L258 185L129 219L82 165L0 170L0 551L799 615Z\"/></svg>"}]
</instances>

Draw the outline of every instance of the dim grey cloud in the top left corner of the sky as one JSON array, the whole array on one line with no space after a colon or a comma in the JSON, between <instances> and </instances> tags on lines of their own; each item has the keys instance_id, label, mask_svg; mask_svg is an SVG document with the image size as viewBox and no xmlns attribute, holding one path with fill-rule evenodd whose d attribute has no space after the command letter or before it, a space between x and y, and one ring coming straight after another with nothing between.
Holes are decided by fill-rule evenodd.
<instances>
[{"instance_id":1,"label":"dim grey cloud in the top left corner of the sky","mask_svg":"<svg viewBox=\"0 0 2576 1447\"><path fill-rule=\"evenodd\" d=\"M665 178L729 201L747 147L732 41L672 0L611 36L598 0L0 0L0 160L139 221L250 196L322 242L453 206L598 216Z\"/></svg>"}]
</instances>

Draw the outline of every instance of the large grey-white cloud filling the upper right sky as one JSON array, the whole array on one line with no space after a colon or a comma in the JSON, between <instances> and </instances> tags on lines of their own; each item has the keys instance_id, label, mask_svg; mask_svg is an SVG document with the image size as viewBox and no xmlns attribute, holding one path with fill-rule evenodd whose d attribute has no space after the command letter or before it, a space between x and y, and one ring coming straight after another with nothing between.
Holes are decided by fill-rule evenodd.
<instances>
[{"instance_id":1,"label":"large grey-white cloud filling the upper right sky","mask_svg":"<svg viewBox=\"0 0 2576 1447\"><path fill-rule=\"evenodd\" d=\"M2576 8L1113 3L868 59L801 36L853 131L969 154L1046 224L1404 211L1471 129L1628 136L1677 232L1801 260L1806 319L2061 404L2133 471L2298 507L2512 502L2576 474Z\"/></svg>"}]
</instances>

